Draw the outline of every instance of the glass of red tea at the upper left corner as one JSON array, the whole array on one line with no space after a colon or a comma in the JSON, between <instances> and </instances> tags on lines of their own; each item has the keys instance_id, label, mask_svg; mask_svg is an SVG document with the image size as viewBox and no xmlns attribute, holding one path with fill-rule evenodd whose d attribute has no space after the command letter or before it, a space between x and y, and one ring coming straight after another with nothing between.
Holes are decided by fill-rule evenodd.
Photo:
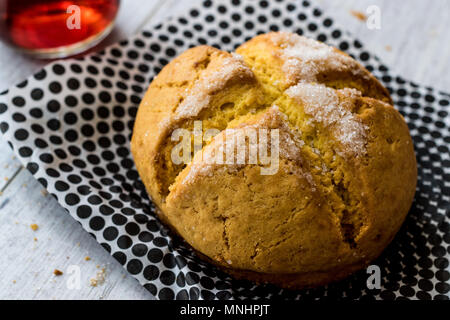
<instances>
[{"instance_id":1,"label":"glass of red tea at the upper left corner","mask_svg":"<svg viewBox=\"0 0 450 320\"><path fill-rule=\"evenodd\" d=\"M0 0L0 36L43 58L80 53L112 29L120 0Z\"/></svg>"}]
</instances>

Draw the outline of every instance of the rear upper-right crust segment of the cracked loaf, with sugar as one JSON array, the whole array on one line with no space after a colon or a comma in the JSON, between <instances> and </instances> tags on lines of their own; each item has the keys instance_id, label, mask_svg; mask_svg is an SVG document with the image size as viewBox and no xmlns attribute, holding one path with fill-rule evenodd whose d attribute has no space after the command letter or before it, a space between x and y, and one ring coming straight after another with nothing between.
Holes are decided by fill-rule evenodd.
<instances>
[{"instance_id":1,"label":"rear upper-right crust segment of the cracked loaf, with sugar","mask_svg":"<svg viewBox=\"0 0 450 320\"><path fill-rule=\"evenodd\" d=\"M295 50L295 43L298 42L299 38L301 38L301 43L298 46L301 48L299 48L300 50ZM296 55L283 53L283 51L286 51L286 48L289 49L293 46L294 51L297 53ZM241 45L236 52L241 54L248 63L260 61L261 64L268 68L266 71L278 74L278 77L283 78L283 81L278 86L281 91L299 81L305 80L305 74L301 72L304 65L297 62L302 60L301 57L307 57L315 58L318 61L317 74L315 75L315 80L318 83L323 83L336 89L355 88L361 91L364 96L392 104L388 90L360 63L346 53L336 48L325 46L325 50L330 52L322 52L313 57L310 54L311 50L304 50L305 53L301 54L302 49L311 48L318 52L322 50L323 46L325 45L311 39L298 37L292 33L270 32L252 38ZM287 66L289 69L289 65L286 64L286 60L289 60L289 58L292 58L294 63L290 65L290 72L286 73L283 72L283 67ZM327 63L326 60L340 60L342 63ZM311 70L308 71L311 72Z\"/></svg>"}]
</instances>

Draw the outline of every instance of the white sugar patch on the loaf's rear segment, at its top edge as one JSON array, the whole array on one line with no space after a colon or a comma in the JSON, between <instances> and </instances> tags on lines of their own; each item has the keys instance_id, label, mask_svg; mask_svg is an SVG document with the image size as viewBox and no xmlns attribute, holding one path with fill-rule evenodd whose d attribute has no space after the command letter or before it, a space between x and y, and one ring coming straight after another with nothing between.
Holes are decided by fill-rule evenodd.
<instances>
[{"instance_id":1,"label":"white sugar patch on the loaf's rear segment, at its top edge","mask_svg":"<svg viewBox=\"0 0 450 320\"><path fill-rule=\"evenodd\" d=\"M315 81L327 69L348 70L355 64L333 47L295 33L279 32L272 41L282 48L283 72L291 82Z\"/></svg>"}]
</instances>

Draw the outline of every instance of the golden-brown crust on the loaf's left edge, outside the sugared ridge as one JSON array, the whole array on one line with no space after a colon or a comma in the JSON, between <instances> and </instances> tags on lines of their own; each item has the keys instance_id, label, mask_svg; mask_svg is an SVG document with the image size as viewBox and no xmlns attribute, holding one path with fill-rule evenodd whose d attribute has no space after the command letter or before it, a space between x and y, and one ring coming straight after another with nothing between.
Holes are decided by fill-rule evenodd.
<instances>
[{"instance_id":1,"label":"golden-brown crust on the loaf's left edge, outside the sugared ridge","mask_svg":"<svg viewBox=\"0 0 450 320\"><path fill-rule=\"evenodd\" d=\"M186 123L191 123L190 120L198 118L198 115L179 116L177 109L199 81L220 72L224 62L230 58L231 54L209 46L189 49L163 68L142 100L136 117L131 150L147 191L158 206L161 206L167 195L166 180L170 180L164 170L168 159L163 157L163 149L170 140L167 137L174 128L183 127ZM216 92L211 90L208 94L218 96L217 91L221 87L242 87L247 82L255 82L253 74L236 68L231 70L226 81L217 86Z\"/></svg>"}]
</instances>

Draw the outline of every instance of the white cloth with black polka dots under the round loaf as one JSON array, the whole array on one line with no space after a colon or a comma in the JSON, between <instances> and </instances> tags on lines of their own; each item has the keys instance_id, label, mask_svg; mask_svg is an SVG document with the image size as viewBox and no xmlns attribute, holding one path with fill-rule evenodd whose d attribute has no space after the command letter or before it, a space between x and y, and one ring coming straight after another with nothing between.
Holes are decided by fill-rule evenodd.
<instances>
[{"instance_id":1,"label":"white cloth with black polka dots under the round loaf","mask_svg":"<svg viewBox=\"0 0 450 320\"><path fill-rule=\"evenodd\" d=\"M20 160L126 270L159 299L448 299L450 95L392 74L309 1L203 1L104 52L52 63L0 94L0 129ZM200 260L156 218L129 150L147 84L174 56L209 44L234 50L288 30L346 51L392 93L413 137L419 181L411 211L374 263L326 287L288 291L237 281Z\"/></svg>"}]
</instances>

